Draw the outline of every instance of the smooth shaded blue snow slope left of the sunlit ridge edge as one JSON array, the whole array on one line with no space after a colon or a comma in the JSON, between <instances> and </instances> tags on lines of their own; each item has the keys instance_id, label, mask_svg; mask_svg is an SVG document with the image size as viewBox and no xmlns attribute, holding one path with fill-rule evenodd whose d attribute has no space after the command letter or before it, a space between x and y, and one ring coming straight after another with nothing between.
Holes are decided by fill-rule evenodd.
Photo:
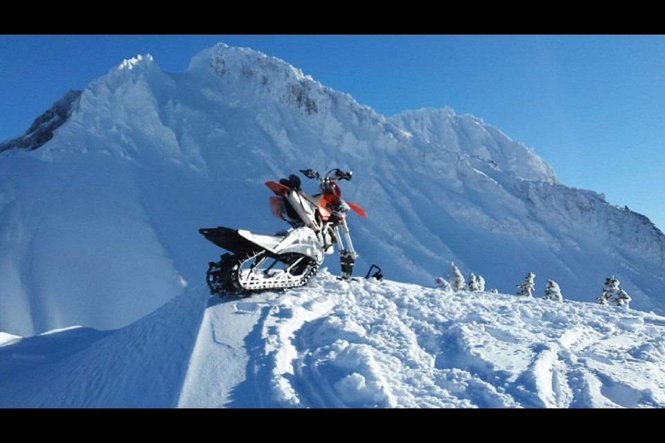
<instances>
[{"instance_id":1,"label":"smooth shaded blue snow slope left of the sunlit ridge edge","mask_svg":"<svg viewBox=\"0 0 665 443\"><path fill-rule=\"evenodd\" d=\"M56 329L0 343L0 408L170 408L206 291L187 291L123 329Z\"/></svg>"}]
</instances>

